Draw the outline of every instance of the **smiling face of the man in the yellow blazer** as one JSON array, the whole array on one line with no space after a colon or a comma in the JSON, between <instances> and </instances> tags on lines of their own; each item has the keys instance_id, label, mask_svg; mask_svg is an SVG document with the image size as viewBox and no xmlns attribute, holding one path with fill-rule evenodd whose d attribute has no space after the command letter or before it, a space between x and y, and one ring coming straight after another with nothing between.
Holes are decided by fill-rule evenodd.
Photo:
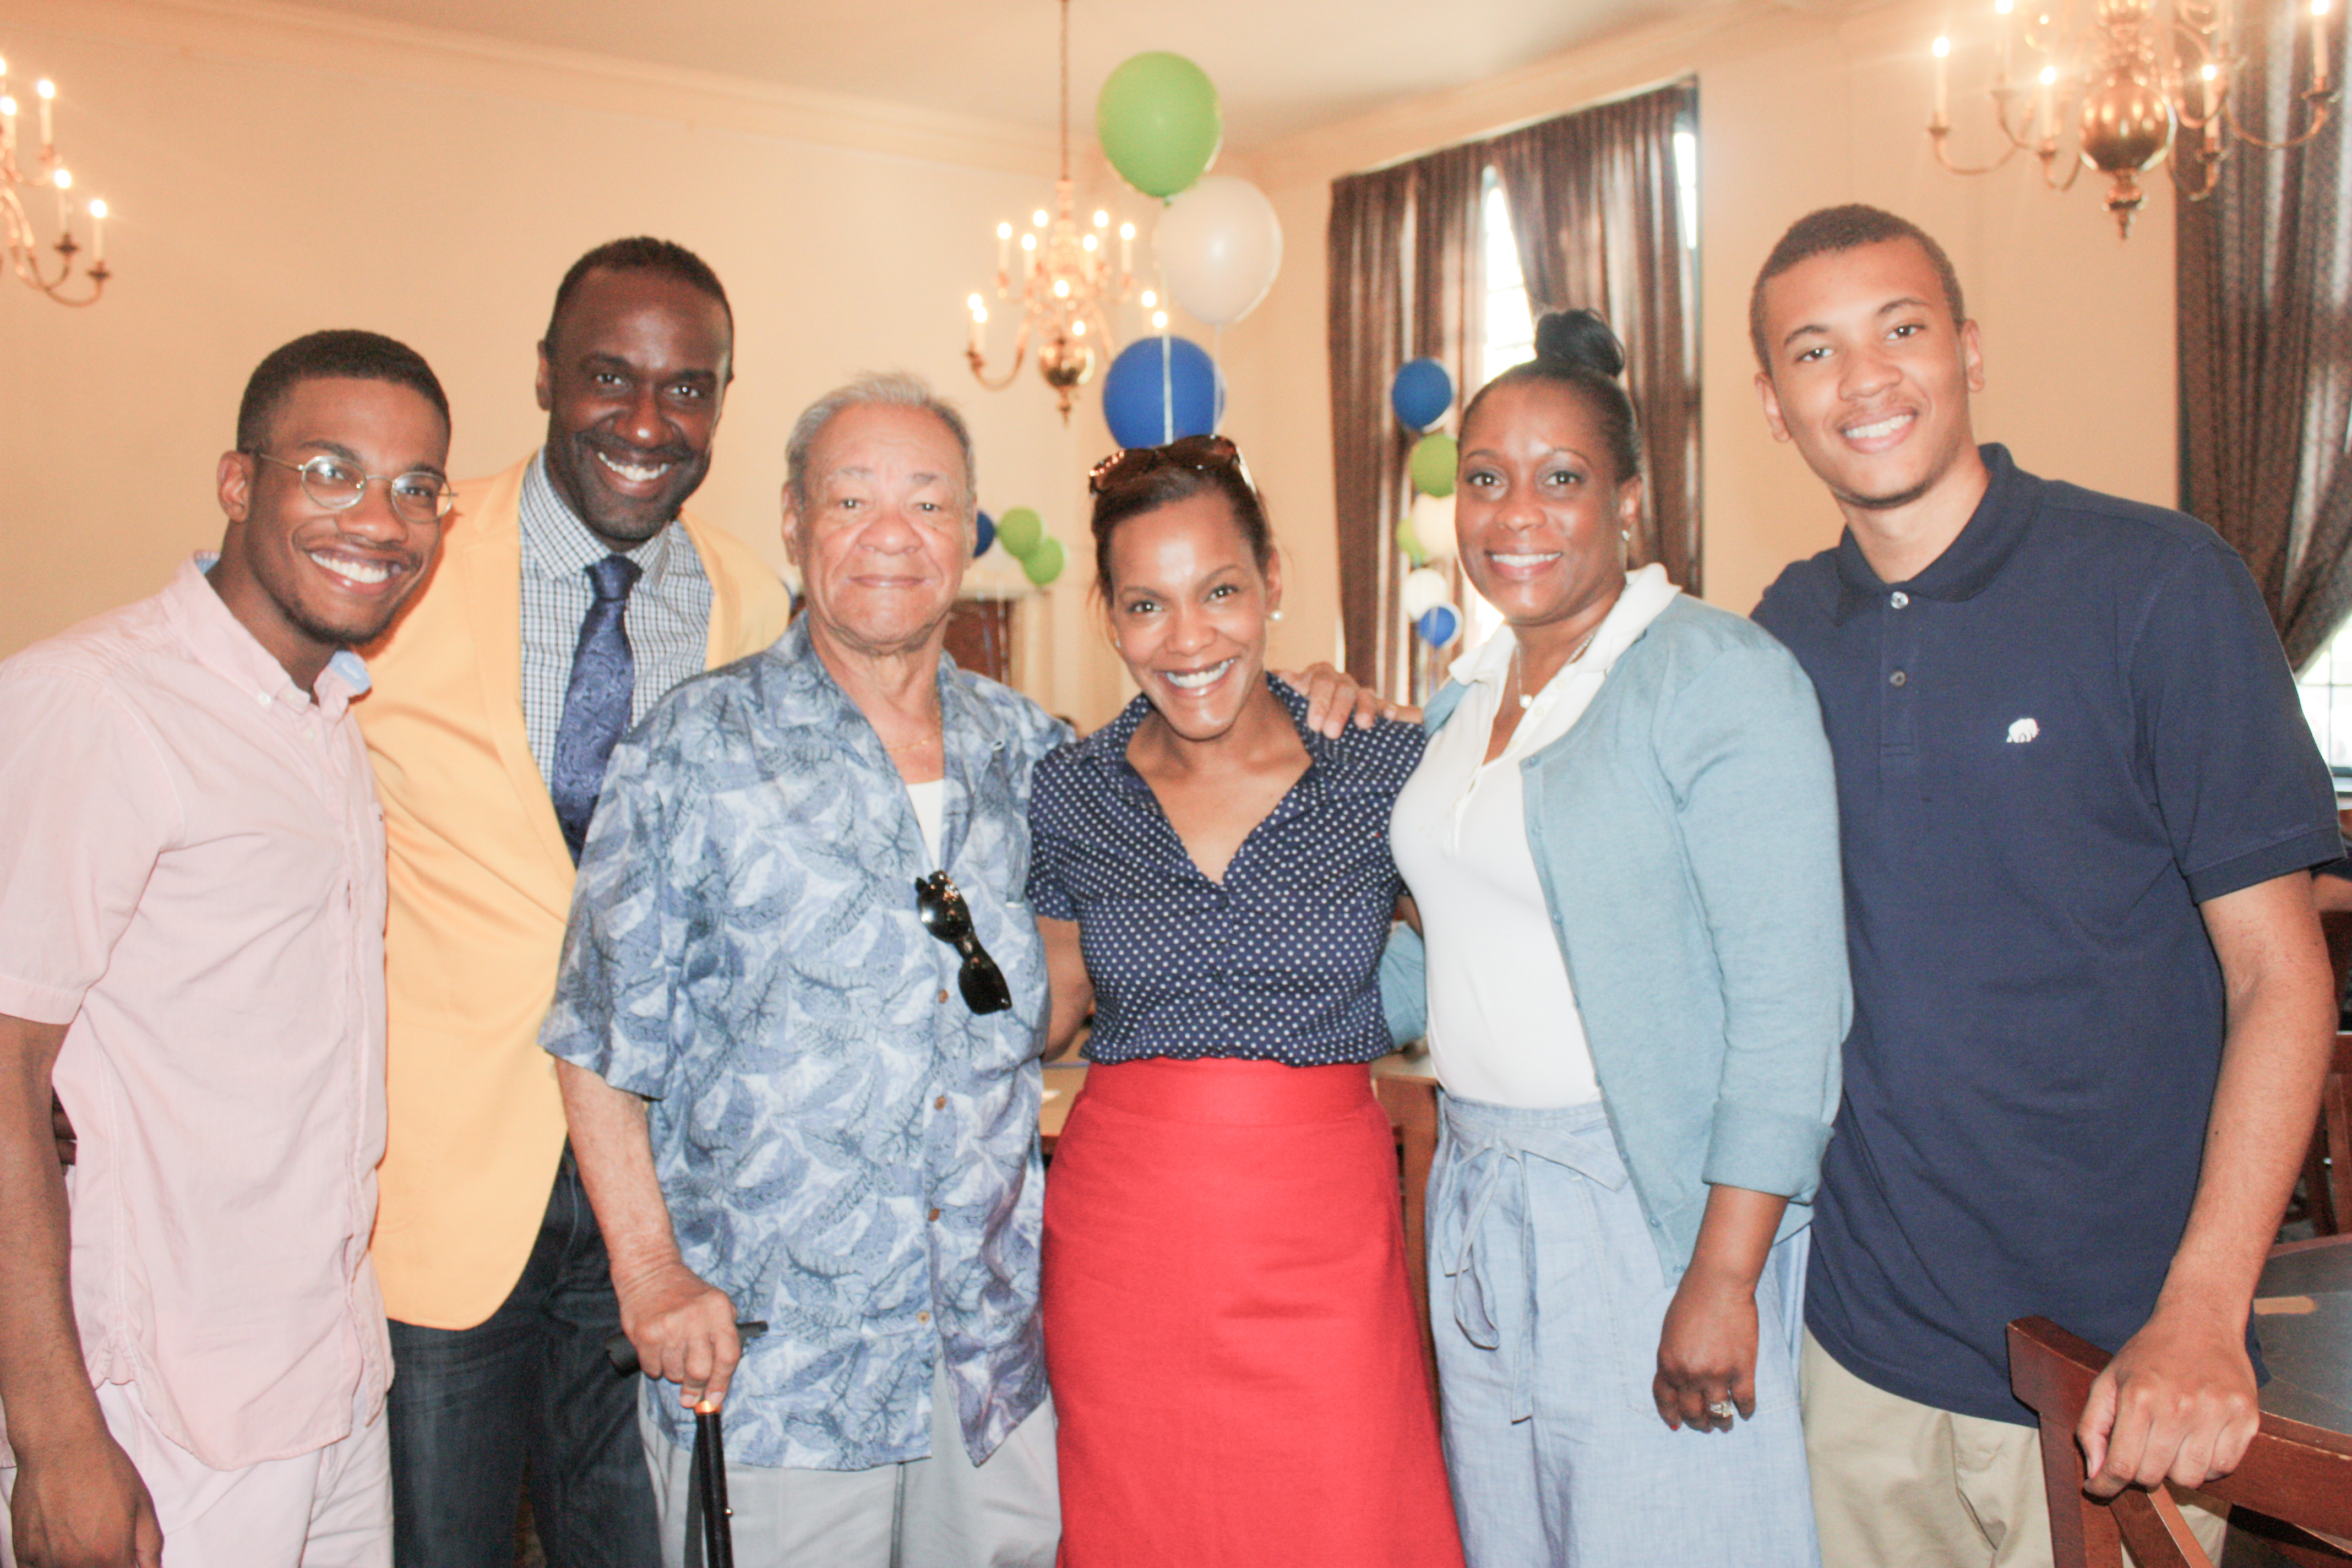
<instances>
[{"instance_id":1,"label":"smiling face of the man in the yellow blazer","mask_svg":"<svg viewBox=\"0 0 2352 1568\"><path fill-rule=\"evenodd\" d=\"M731 376L727 308L668 273L593 270L539 346L548 480L588 531L630 550L710 473Z\"/></svg>"}]
</instances>

